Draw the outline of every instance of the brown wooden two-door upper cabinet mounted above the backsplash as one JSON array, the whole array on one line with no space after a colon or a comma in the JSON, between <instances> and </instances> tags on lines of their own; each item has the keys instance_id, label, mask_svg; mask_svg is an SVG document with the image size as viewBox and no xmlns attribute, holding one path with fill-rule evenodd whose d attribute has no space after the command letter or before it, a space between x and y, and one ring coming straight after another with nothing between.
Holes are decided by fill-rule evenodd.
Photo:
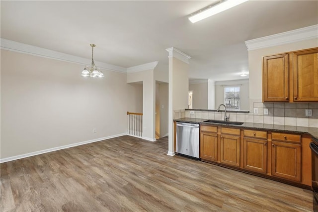
<instances>
[{"instance_id":1,"label":"brown wooden two-door upper cabinet mounted above the backsplash","mask_svg":"<svg viewBox=\"0 0 318 212\"><path fill-rule=\"evenodd\" d=\"M263 102L318 102L318 48L263 57Z\"/></svg>"}]
</instances>

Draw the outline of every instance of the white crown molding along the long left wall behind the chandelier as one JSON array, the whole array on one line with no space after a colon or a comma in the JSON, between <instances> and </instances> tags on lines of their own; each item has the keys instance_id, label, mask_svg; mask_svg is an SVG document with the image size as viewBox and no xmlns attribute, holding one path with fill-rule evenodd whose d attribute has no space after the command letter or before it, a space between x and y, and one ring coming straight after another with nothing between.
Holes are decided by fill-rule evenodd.
<instances>
[{"instance_id":1,"label":"white crown molding along the long left wall behind the chandelier","mask_svg":"<svg viewBox=\"0 0 318 212\"><path fill-rule=\"evenodd\" d=\"M78 57L78 56L74 56L70 54L65 54L62 52L40 48L40 47L36 47L36 46L24 44L24 43L19 43L12 40L1 38L0 42L1 42L1 49L8 50L8 51L20 52L24 54L30 54L30 55L35 55L35 56L40 56L40 57L45 57L45 58L50 58L55 60L72 62L72 63L81 64L81 65L88 65L91 63L91 59ZM95 61L95 63L97 64L97 67L101 69L106 69L109 71L115 71L115 72L121 72L121 73L126 73L127 71L126 68L124 67L115 66L112 64L98 62L98 61Z\"/></svg>"}]
</instances>

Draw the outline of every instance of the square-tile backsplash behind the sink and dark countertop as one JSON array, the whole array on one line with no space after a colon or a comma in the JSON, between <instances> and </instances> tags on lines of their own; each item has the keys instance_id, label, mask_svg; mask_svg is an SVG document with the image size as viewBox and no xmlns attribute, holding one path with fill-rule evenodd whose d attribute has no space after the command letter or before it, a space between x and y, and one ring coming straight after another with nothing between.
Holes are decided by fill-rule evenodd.
<instances>
[{"instance_id":1,"label":"square-tile backsplash behind the sink and dark countertop","mask_svg":"<svg viewBox=\"0 0 318 212\"><path fill-rule=\"evenodd\" d=\"M250 100L249 106L249 113L230 111L230 121L318 127L318 103L262 103L261 100ZM253 113L254 108L257 108L257 114ZM312 110L312 116L305 115L306 109ZM181 117L222 120L224 111L175 110L173 118Z\"/></svg>"}]
</instances>

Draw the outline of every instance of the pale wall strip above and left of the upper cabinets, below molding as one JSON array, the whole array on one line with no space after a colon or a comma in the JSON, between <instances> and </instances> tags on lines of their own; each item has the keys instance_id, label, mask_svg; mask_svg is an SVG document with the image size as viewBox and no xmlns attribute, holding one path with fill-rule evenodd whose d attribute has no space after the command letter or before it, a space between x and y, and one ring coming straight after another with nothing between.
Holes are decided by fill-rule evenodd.
<instances>
[{"instance_id":1,"label":"pale wall strip above and left of the upper cabinets, below molding","mask_svg":"<svg viewBox=\"0 0 318 212\"><path fill-rule=\"evenodd\" d=\"M268 48L248 51L249 97L262 100L262 57L289 51L318 47L317 39L304 40Z\"/></svg>"}]
</instances>

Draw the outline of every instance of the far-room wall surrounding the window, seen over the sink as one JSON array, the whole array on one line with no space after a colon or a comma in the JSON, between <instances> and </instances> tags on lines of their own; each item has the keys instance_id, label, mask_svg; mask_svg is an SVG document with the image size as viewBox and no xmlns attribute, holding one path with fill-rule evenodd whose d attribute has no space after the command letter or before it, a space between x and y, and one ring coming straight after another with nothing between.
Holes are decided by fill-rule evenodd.
<instances>
[{"instance_id":1,"label":"far-room wall surrounding the window, seen over the sink","mask_svg":"<svg viewBox=\"0 0 318 212\"><path fill-rule=\"evenodd\" d=\"M249 80L230 80L215 82L216 106L224 104L224 88L228 86L239 87L240 110L249 110Z\"/></svg>"}]
</instances>

